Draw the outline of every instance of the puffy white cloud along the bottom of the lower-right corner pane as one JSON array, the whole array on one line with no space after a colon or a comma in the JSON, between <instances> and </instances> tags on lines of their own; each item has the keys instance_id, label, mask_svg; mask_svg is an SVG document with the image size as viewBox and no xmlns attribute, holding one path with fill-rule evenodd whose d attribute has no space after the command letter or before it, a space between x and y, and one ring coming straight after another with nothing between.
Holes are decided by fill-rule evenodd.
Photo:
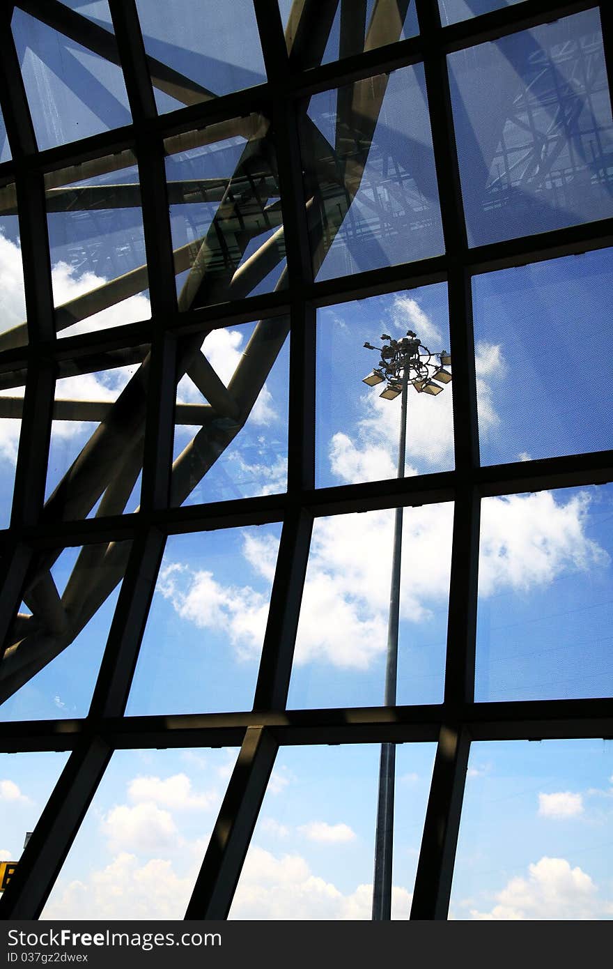
<instances>
[{"instance_id":1,"label":"puffy white cloud along the bottom of the lower-right corner pane","mask_svg":"<svg viewBox=\"0 0 613 969\"><path fill-rule=\"evenodd\" d=\"M609 905L598 899L590 875L571 868L562 858L541 858L529 866L527 878L511 878L496 894L497 904L489 912L471 911L473 919L494 920L585 920L597 919Z\"/></svg>"}]
</instances>

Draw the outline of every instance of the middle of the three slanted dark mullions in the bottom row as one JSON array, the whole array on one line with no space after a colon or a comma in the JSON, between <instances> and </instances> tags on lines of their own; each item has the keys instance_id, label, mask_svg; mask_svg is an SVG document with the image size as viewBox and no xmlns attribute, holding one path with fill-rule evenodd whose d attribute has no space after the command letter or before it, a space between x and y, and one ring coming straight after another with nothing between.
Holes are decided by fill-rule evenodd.
<instances>
[{"instance_id":1,"label":"middle of the three slanted dark mullions in the bottom row","mask_svg":"<svg viewBox=\"0 0 613 969\"><path fill-rule=\"evenodd\" d=\"M279 744L248 727L206 849L186 919L227 919Z\"/></svg>"}]
</instances>

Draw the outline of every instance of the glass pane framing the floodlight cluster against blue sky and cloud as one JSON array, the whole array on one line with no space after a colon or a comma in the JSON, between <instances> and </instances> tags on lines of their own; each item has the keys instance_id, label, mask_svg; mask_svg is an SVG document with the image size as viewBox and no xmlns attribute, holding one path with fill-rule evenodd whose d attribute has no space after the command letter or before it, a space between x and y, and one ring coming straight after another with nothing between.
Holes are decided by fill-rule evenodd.
<instances>
[{"instance_id":1,"label":"glass pane framing the floodlight cluster against blue sky and cloud","mask_svg":"<svg viewBox=\"0 0 613 969\"><path fill-rule=\"evenodd\" d=\"M420 369L412 352L399 359L407 369L407 448L404 474L447 471L453 467L452 383L441 384L436 399L416 392L422 387L424 367L433 378L441 367L441 352L449 347L447 291L444 283L418 290L370 297L318 310L317 330L317 422L316 484L344 485L395 478L399 435L402 428L402 395L382 399L387 382L363 383L381 365L381 353L364 348L391 346L382 333L399 341L408 330L415 332ZM426 353L426 349L432 355ZM389 362L385 358L383 362ZM428 364L429 361L429 365ZM402 371L401 371L402 373ZM451 366L444 367L446 374Z\"/></svg>"}]
</instances>

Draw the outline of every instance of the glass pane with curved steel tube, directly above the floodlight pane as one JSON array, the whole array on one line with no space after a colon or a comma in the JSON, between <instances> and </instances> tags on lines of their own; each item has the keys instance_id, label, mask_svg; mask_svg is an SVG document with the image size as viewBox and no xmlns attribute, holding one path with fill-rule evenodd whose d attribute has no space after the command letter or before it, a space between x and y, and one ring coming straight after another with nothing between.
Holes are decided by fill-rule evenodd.
<instances>
[{"instance_id":1,"label":"glass pane with curved steel tube, directly above the floodlight pane","mask_svg":"<svg viewBox=\"0 0 613 969\"><path fill-rule=\"evenodd\" d=\"M318 279L444 251L420 64L314 95L301 128Z\"/></svg>"}]
</instances>

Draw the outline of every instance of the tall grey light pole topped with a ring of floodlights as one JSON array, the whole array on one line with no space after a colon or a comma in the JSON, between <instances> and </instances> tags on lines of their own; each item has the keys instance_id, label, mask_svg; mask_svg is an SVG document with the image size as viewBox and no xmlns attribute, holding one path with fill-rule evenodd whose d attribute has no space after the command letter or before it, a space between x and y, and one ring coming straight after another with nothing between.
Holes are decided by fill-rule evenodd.
<instances>
[{"instance_id":1,"label":"tall grey light pole topped with a ring of floodlights","mask_svg":"<svg viewBox=\"0 0 613 969\"><path fill-rule=\"evenodd\" d=\"M401 397L400 439L398 443L397 477L405 476L405 456L407 451L407 404L409 385L417 393L433 396L441 393L441 384L448 384L451 374L445 366L451 363L450 356L443 351L436 357L419 341L412 329L400 340L394 340L387 333L382 334L383 347L365 343L367 350L381 353L379 366L364 383L376 387L386 383L380 394L385 400ZM421 351L421 352L420 352ZM439 381L439 383L436 383ZM402 559L402 506L394 516L394 540L392 547L391 582L389 588L389 614L387 619L387 659L385 664L385 706L396 705L396 680L398 669L398 623L400 617L400 566ZM394 837L394 777L396 765L396 745L382 743L381 764L379 767L379 800L377 805L377 833L375 837L375 874L373 879L373 919L377 921L391 918L391 863Z\"/></svg>"}]
</instances>

